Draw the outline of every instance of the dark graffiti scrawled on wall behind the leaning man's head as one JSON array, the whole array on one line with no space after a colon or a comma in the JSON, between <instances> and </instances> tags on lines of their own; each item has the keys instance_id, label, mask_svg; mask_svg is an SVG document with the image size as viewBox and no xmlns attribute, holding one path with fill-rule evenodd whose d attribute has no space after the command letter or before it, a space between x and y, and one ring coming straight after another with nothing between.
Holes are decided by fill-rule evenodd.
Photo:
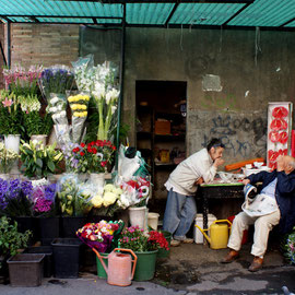
<instances>
[{"instance_id":1,"label":"dark graffiti scrawled on wall behind the leaning man's head","mask_svg":"<svg viewBox=\"0 0 295 295\"><path fill-rule=\"evenodd\" d=\"M202 146L211 138L220 138L226 153L234 157L262 156L267 146L267 118L237 118L231 115L216 116L203 134Z\"/></svg>"}]
</instances>

